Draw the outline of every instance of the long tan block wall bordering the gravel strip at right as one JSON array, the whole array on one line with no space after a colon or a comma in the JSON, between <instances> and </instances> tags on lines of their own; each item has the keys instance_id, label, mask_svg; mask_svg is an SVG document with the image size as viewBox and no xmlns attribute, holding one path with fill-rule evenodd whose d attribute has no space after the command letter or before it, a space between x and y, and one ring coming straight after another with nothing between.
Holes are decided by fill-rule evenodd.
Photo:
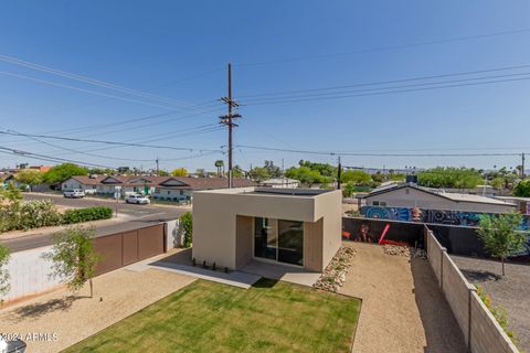
<instances>
[{"instance_id":1,"label":"long tan block wall bordering the gravel strip at right","mask_svg":"<svg viewBox=\"0 0 530 353\"><path fill-rule=\"evenodd\" d=\"M428 263L460 327L469 352L519 352L433 232L424 228Z\"/></svg>"}]
</instances>

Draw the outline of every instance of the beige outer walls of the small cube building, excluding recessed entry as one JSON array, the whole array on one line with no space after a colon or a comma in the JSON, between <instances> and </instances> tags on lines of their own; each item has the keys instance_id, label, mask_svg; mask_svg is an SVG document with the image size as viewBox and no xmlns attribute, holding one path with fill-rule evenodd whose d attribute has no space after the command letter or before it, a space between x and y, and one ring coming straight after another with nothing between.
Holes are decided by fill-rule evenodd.
<instances>
[{"instance_id":1,"label":"beige outer walls of the small cube building, excluding recessed entry","mask_svg":"<svg viewBox=\"0 0 530 353\"><path fill-rule=\"evenodd\" d=\"M236 216L239 215L310 223L324 217L324 249L320 248L319 252L327 265L341 242L340 192L330 191L316 196L292 196L254 194L253 190L247 188L194 193L192 252L197 261L215 261L219 266L237 267Z\"/></svg>"}]
</instances>

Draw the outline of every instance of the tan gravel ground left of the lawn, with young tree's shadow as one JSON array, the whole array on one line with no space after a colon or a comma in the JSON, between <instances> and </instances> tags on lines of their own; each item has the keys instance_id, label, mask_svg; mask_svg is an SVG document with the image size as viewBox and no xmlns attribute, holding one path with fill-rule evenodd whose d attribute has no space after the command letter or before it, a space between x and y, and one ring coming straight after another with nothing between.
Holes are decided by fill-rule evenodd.
<instances>
[{"instance_id":1,"label":"tan gravel ground left of the lawn, with young tree's shadow","mask_svg":"<svg viewBox=\"0 0 530 353\"><path fill-rule=\"evenodd\" d=\"M28 352L59 352L193 280L157 269L119 269L94 279L92 299L85 286L76 296L61 289L0 310L0 332L21 335Z\"/></svg>"}]
</instances>

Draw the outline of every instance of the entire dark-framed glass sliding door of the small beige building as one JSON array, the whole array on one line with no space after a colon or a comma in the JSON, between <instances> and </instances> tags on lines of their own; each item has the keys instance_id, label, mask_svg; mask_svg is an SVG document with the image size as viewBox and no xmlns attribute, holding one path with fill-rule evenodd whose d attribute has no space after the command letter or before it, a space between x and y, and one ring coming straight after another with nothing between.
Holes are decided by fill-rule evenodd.
<instances>
[{"instance_id":1,"label":"entire dark-framed glass sliding door of the small beige building","mask_svg":"<svg viewBox=\"0 0 530 353\"><path fill-rule=\"evenodd\" d=\"M254 256L304 265L304 222L255 217Z\"/></svg>"}]
</instances>

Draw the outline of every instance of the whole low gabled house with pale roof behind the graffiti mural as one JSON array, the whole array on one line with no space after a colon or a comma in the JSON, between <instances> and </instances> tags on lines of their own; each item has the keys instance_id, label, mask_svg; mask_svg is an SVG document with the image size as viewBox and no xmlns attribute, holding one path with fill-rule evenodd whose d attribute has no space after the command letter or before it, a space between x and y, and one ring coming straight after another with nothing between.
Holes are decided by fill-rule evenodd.
<instances>
[{"instance_id":1,"label":"whole low gabled house with pale roof behind the graffiti mural","mask_svg":"<svg viewBox=\"0 0 530 353\"><path fill-rule=\"evenodd\" d=\"M367 206L427 208L481 213L504 213L516 210L516 205L498 199L474 194L451 193L444 190L402 183L375 189L361 196Z\"/></svg>"}]
</instances>

